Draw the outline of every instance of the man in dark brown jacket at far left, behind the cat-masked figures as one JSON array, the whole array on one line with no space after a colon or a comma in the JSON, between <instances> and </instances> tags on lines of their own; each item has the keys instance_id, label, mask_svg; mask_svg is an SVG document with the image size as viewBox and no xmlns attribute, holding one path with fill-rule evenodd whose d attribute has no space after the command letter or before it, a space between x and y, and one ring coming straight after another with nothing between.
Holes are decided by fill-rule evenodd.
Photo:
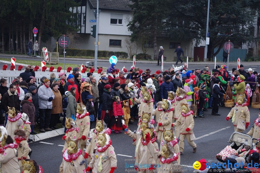
<instances>
[{"instance_id":1,"label":"man in dark brown jacket at far left, behind the cat-masked figures","mask_svg":"<svg viewBox=\"0 0 260 173\"><path fill-rule=\"evenodd\" d=\"M8 106L10 108L14 107L17 111L20 111L20 100L16 93L16 87L14 84L11 84L9 88L10 89L8 89L2 97L2 107L5 111L5 125L7 122L7 112L9 111Z\"/></svg>"}]
</instances>

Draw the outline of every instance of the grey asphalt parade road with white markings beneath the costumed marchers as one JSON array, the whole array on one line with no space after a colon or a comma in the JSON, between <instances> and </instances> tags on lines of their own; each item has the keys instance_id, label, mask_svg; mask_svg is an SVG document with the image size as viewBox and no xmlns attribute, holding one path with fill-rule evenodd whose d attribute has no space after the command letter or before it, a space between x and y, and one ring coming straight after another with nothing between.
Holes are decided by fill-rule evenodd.
<instances>
[{"instance_id":1,"label":"grey asphalt parade road with white markings beneath the costumed marchers","mask_svg":"<svg viewBox=\"0 0 260 173\"><path fill-rule=\"evenodd\" d=\"M226 115L231 108L220 107L219 113L221 116L211 115L211 109L205 112L205 118L196 118L194 126L194 134L196 136L195 143L197 144L197 152L192 153L192 148L185 140L185 147L183 155L181 155L181 165L185 173L194 171L192 164L200 159L205 159L208 163L216 163L216 154L224 149L229 143L229 138L234 132L231 120L226 121ZM254 109L249 106L250 111L250 128L251 124L258 117L259 109ZM137 122L135 122L137 124ZM92 126L94 127L94 125ZM137 125L129 125L131 130L136 130ZM248 132L249 129L246 130ZM132 138L121 134L111 134L112 146L117 154L117 169L115 173L133 172L133 168L125 168L126 165L134 164L135 146L132 145ZM47 143L42 143L47 142ZM62 162L62 148L64 141L62 135L52 137L35 143L29 143L32 149L31 159L42 166L44 172L57 173L59 171L60 163ZM118 154L126 155L121 156Z\"/></svg>"}]
</instances>

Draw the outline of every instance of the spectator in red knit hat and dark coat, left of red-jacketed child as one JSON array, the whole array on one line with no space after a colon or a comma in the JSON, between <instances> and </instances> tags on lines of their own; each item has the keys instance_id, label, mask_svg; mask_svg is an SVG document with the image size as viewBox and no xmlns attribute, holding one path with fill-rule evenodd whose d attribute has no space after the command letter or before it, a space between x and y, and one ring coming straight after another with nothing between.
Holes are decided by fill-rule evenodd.
<instances>
[{"instance_id":1,"label":"spectator in red knit hat and dark coat, left of red-jacketed child","mask_svg":"<svg viewBox=\"0 0 260 173\"><path fill-rule=\"evenodd\" d=\"M113 99L110 94L111 88L112 88L111 85L106 84L103 89L104 92L102 94L103 104L102 104L102 111L101 111L101 119L105 118L106 113L109 114L109 118L113 116Z\"/></svg>"}]
</instances>

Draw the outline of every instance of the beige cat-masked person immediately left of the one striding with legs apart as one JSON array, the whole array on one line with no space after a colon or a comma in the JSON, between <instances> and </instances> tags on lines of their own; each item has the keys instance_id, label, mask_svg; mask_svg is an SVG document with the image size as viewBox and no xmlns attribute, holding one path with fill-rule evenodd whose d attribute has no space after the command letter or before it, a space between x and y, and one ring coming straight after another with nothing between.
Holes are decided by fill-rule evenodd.
<instances>
[{"instance_id":1,"label":"beige cat-masked person immediately left of the one striding with legs apart","mask_svg":"<svg viewBox=\"0 0 260 173\"><path fill-rule=\"evenodd\" d=\"M169 100L162 99L162 112L161 117L159 118L158 125L155 128L155 132L157 132L157 139L161 142L163 128L171 128L172 126L172 117L174 108L171 107L172 104Z\"/></svg>"}]
</instances>

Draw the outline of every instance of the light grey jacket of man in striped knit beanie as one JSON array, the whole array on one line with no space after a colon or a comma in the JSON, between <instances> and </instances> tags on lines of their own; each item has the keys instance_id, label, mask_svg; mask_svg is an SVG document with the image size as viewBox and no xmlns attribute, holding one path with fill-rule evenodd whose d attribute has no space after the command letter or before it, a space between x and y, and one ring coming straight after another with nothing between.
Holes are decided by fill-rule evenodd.
<instances>
[{"instance_id":1,"label":"light grey jacket of man in striped knit beanie","mask_svg":"<svg viewBox=\"0 0 260 173\"><path fill-rule=\"evenodd\" d=\"M38 89L38 97L39 97L39 109L52 109L52 104L47 105L49 97L54 99L54 93L51 88L45 87L45 85L40 86Z\"/></svg>"}]
</instances>

